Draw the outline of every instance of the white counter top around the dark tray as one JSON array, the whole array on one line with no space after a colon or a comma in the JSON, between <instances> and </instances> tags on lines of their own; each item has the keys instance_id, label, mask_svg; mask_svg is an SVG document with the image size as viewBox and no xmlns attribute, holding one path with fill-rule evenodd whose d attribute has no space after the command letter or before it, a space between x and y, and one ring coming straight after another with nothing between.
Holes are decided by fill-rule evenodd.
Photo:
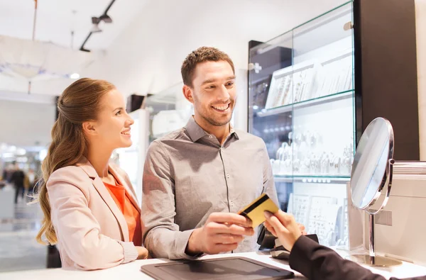
<instances>
[{"instance_id":1,"label":"white counter top around the dark tray","mask_svg":"<svg viewBox=\"0 0 426 280\"><path fill-rule=\"evenodd\" d=\"M338 251L339 252L339 251ZM346 252L339 252L342 257L347 255ZM271 264L275 267L280 267L283 269L290 269L288 262L281 261L279 259L273 259L269 253L264 252L249 252L249 253L240 253L240 254L216 254L216 255L207 255L201 257L200 259L214 259L221 257L247 257L250 259L255 259L259 262L264 262L266 264ZM137 260L135 262L130 262L129 264L121 264L117 267L112 267L111 269L102 269L95 271L81 271L77 269L38 269L38 270L28 270L28 271L16 271L16 272L6 272L0 273L0 280L49 280L49 279L60 279L60 280L109 280L109 279L120 279L126 277L126 279L152 279L150 276L143 274L141 272L141 266L145 264L158 264L163 262L173 262L168 259L143 259ZM387 279L391 276L396 276L399 278L407 278L413 276L422 276L426 275L426 267L421 267L416 264L410 264L408 262L403 262L402 266L393 267L393 268L370 268L371 271L377 274L385 276ZM306 279L298 272L294 271L297 275L297 279Z\"/></svg>"}]
</instances>

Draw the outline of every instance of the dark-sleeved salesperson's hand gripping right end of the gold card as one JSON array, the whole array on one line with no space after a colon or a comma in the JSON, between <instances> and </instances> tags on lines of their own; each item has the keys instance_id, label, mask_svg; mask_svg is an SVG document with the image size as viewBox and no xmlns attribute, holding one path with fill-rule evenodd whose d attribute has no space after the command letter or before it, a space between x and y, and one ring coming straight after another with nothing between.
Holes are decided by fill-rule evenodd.
<instances>
[{"instance_id":1,"label":"dark-sleeved salesperson's hand gripping right end of the gold card","mask_svg":"<svg viewBox=\"0 0 426 280\"><path fill-rule=\"evenodd\" d=\"M265 227L273 236L278 237L286 250L291 251L297 239L302 235L293 215L281 210L275 214L265 211L265 218Z\"/></svg>"}]
</instances>

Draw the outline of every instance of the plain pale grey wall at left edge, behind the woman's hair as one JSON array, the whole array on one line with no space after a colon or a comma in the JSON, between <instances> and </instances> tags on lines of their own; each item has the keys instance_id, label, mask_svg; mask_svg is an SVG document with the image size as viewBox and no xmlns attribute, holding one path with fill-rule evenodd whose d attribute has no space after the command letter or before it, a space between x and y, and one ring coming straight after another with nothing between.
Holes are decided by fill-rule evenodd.
<instances>
[{"instance_id":1,"label":"plain pale grey wall at left edge, behind the woman's hair","mask_svg":"<svg viewBox=\"0 0 426 280\"><path fill-rule=\"evenodd\" d=\"M0 120L0 143L46 146L55 122L55 105L0 100Z\"/></svg>"}]
</instances>

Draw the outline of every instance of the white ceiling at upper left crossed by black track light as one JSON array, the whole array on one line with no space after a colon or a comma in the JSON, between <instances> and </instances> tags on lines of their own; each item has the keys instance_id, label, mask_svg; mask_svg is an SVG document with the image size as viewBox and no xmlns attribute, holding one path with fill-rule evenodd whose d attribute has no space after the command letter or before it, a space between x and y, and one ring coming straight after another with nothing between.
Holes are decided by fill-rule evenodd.
<instances>
[{"instance_id":1,"label":"white ceiling at upper left crossed by black track light","mask_svg":"<svg viewBox=\"0 0 426 280\"><path fill-rule=\"evenodd\" d=\"M89 50L107 49L123 32L148 0L116 0L108 14L113 23L100 23L102 33L94 33L84 46ZM92 16L101 16L111 0L38 0L35 39L80 49L92 28ZM32 38L34 0L0 0L0 35ZM76 11L73 15L72 11Z\"/></svg>"}]
</instances>

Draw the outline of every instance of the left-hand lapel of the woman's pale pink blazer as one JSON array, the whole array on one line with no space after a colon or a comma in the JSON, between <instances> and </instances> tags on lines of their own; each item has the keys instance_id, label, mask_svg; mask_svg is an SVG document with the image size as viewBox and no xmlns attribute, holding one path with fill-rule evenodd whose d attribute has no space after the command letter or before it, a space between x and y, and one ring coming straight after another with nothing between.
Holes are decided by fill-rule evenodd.
<instances>
[{"instance_id":1,"label":"left-hand lapel of the woman's pale pink blazer","mask_svg":"<svg viewBox=\"0 0 426 280\"><path fill-rule=\"evenodd\" d=\"M102 197L105 203L107 203L107 206L114 214L117 222L119 223L123 240L125 242L129 242L129 228L127 227L126 219L124 218L123 213L121 213L119 206L116 205L114 199L111 197L111 194L109 194L109 191L104 185L104 182L101 180L101 178L99 178L98 174L96 173L96 170L94 170L94 168L92 167L92 164L90 164L90 162L86 159L85 162L82 162L77 165L80 166L84 170L84 172L89 175L90 178L92 178L94 188L97 190L99 196Z\"/></svg>"}]
</instances>

